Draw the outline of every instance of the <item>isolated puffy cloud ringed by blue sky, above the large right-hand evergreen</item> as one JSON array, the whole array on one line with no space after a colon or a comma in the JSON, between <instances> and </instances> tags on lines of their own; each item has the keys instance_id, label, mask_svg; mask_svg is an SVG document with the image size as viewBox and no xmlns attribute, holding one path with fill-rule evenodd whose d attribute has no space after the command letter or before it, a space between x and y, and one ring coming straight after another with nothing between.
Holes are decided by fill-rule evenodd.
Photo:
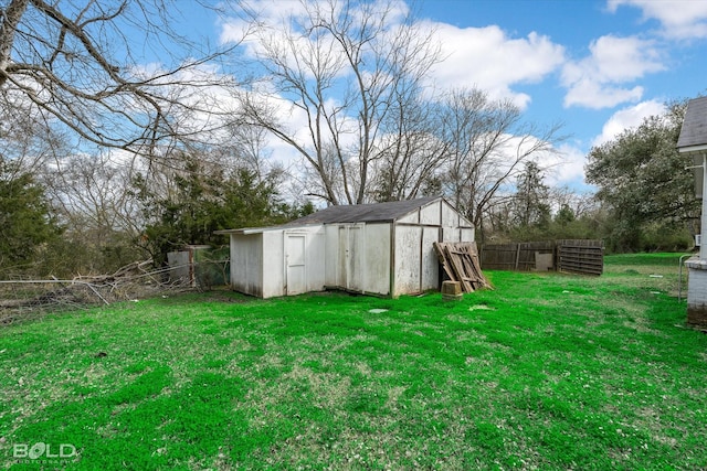
<instances>
[{"instance_id":1,"label":"isolated puffy cloud ringed by blue sky, above the large right-hand evergreen","mask_svg":"<svg viewBox=\"0 0 707 471\"><path fill-rule=\"evenodd\" d=\"M589 49L588 57L570 62L562 69L561 82L568 89L566 107L600 109L637 101L643 87L621 85L665 69L652 41L606 35L593 41Z\"/></svg>"}]
</instances>

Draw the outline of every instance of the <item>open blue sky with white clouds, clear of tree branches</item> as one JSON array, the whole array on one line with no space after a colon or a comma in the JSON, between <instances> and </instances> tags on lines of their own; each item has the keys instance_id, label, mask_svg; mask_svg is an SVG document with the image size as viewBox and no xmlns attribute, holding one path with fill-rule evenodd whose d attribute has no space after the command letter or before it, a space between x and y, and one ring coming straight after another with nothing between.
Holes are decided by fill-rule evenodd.
<instances>
[{"instance_id":1,"label":"open blue sky with white clouds, clear of tree branches","mask_svg":"<svg viewBox=\"0 0 707 471\"><path fill-rule=\"evenodd\" d=\"M192 28L223 41L229 15L182 1ZM297 0L250 1L279 12ZM561 162L548 162L551 184L591 190L583 167L592 146L665 101L707 94L707 1L393 1L436 31L447 57L432 71L437 86L478 87L514 100L527 121L563 125L569 139Z\"/></svg>"}]
</instances>

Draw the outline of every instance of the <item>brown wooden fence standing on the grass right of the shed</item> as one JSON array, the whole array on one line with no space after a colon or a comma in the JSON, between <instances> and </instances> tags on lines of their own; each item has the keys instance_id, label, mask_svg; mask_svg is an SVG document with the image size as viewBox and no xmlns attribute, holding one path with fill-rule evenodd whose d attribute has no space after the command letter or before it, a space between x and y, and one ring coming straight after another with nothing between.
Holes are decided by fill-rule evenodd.
<instances>
[{"instance_id":1,"label":"brown wooden fence standing on the grass right of the shed","mask_svg":"<svg viewBox=\"0 0 707 471\"><path fill-rule=\"evenodd\" d=\"M484 270L564 271L601 275L604 243L595 239L562 239L483 245Z\"/></svg>"}]
</instances>

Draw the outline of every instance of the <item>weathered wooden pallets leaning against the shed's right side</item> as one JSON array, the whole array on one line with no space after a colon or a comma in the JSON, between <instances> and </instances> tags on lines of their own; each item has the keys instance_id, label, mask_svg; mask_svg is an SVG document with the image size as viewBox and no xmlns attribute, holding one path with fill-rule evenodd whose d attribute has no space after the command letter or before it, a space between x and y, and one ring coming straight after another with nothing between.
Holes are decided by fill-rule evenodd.
<instances>
[{"instance_id":1,"label":"weathered wooden pallets leaning against the shed's right side","mask_svg":"<svg viewBox=\"0 0 707 471\"><path fill-rule=\"evenodd\" d=\"M458 281L462 291L473 292L479 288L492 288L482 272L475 242L435 242L433 246L447 278Z\"/></svg>"}]
</instances>

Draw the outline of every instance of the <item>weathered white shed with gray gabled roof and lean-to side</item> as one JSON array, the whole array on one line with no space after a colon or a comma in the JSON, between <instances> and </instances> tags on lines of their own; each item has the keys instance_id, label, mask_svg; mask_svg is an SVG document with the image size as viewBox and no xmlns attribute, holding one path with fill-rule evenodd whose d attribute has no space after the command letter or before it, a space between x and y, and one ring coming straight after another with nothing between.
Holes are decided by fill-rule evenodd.
<instances>
[{"instance_id":1,"label":"weathered white shed with gray gabled roof and lean-to side","mask_svg":"<svg viewBox=\"0 0 707 471\"><path fill-rule=\"evenodd\" d=\"M474 227L441 196L330 206L231 237L231 285L262 298L325 289L398 297L439 289L434 242L473 242Z\"/></svg>"}]
</instances>

